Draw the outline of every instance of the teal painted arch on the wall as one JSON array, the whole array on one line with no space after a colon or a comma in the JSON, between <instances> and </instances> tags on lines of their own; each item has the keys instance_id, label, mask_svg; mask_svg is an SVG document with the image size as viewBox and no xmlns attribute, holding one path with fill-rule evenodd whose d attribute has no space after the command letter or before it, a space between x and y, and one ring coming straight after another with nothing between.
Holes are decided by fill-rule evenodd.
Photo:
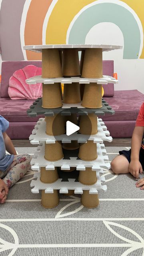
<instances>
[{"instance_id":1,"label":"teal painted arch on the wall","mask_svg":"<svg viewBox=\"0 0 144 256\"><path fill-rule=\"evenodd\" d=\"M101 22L116 24L124 36L124 59L137 59L140 51L140 29L133 14L123 6L102 3L90 6L74 22L68 44L84 44L90 29Z\"/></svg>"}]
</instances>

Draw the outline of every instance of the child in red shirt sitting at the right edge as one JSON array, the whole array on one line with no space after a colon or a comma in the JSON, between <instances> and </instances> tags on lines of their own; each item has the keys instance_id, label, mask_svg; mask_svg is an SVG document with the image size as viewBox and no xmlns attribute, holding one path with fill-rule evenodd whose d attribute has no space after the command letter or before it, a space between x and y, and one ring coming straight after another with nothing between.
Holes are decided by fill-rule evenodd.
<instances>
[{"instance_id":1,"label":"child in red shirt sitting at the right edge","mask_svg":"<svg viewBox=\"0 0 144 256\"><path fill-rule=\"evenodd\" d=\"M136 126L132 134L131 149L122 150L120 156L116 156L111 162L114 173L131 173L135 178L139 178L139 172L144 170L144 103L142 104ZM144 189L144 178L136 182L136 187Z\"/></svg>"}]
</instances>

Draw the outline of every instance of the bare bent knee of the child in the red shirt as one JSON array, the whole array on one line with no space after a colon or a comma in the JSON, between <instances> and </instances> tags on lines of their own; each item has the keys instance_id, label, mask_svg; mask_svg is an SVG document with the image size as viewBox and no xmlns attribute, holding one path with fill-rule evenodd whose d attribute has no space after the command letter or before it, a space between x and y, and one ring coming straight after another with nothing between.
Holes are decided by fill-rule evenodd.
<instances>
[{"instance_id":1,"label":"bare bent knee of the child in the red shirt","mask_svg":"<svg viewBox=\"0 0 144 256\"><path fill-rule=\"evenodd\" d=\"M116 156L111 162L111 169L114 173L129 173L128 171L129 162L124 154Z\"/></svg>"}]
</instances>

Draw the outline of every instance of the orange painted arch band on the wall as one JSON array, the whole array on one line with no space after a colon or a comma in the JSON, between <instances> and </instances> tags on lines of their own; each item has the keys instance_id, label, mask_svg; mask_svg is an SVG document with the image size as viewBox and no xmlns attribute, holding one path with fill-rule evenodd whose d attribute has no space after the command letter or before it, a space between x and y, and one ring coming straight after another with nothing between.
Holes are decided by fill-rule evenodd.
<instances>
[{"instance_id":1,"label":"orange painted arch band on the wall","mask_svg":"<svg viewBox=\"0 0 144 256\"><path fill-rule=\"evenodd\" d=\"M42 44L42 27L52 0L31 0L24 29L25 45ZM41 53L26 51L28 60L41 60Z\"/></svg>"}]
</instances>

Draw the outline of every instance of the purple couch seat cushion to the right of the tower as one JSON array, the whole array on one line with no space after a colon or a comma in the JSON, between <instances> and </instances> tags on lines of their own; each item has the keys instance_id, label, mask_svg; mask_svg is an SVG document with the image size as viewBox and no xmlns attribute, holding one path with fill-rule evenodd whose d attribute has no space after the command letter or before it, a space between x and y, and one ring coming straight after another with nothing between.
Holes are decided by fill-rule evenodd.
<instances>
[{"instance_id":1,"label":"purple couch seat cushion to the right of the tower","mask_svg":"<svg viewBox=\"0 0 144 256\"><path fill-rule=\"evenodd\" d=\"M144 94L138 90L115 91L114 97L105 97L104 100L115 110L115 114L101 116L103 121L136 120Z\"/></svg>"}]
</instances>

